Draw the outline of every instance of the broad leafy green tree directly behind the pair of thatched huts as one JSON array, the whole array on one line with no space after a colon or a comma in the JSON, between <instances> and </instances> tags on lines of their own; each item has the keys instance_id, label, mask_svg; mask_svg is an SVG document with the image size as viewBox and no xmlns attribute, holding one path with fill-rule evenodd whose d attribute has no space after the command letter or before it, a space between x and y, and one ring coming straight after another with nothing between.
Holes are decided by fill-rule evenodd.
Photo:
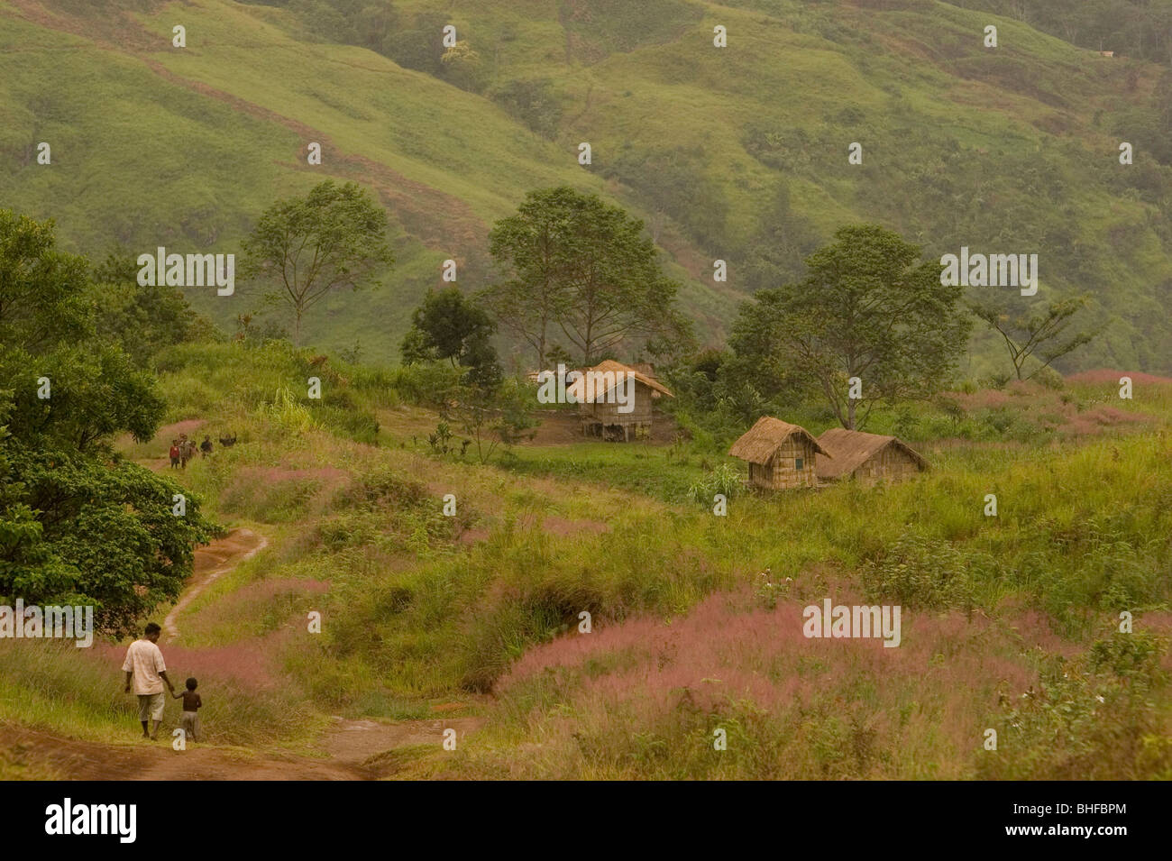
<instances>
[{"instance_id":1,"label":"broad leafy green tree directly behind the pair of thatched huts","mask_svg":"<svg viewBox=\"0 0 1172 861\"><path fill-rule=\"evenodd\" d=\"M778 376L812 382L844 428L854 429L863 387L866 422L877 402L928 397L947 382L968 339L960 287L920 247L878 225L839 228L806 259L796 285L759 291L741 306L731 343Z\"/></svg>"}]
</instances>

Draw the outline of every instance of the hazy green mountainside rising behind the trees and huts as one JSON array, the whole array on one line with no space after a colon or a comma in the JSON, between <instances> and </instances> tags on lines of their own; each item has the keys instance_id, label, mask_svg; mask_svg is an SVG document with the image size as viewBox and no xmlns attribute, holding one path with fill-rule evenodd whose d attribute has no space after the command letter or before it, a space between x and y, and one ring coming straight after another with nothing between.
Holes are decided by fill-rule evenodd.
<instances>
[{"instance_id":1,"label":"hazy green mountainside rising behind the trees and huts","mask_svg":"<svg viewBox=\"0 0 1172 861\"><path fill-rule=\"evenodd\" d=\"M443 23L473 59L438 59ZM442 260L482 286L492 221L568 183L647 220L714 343L741 296L798 274L837 226L874 220L929 255L1037 253L1041 294L1086 291L1106 326L1064 370L1167 373L1170 103L1164 66L932 0L0 5L5 206L55 218L93 254L232 252L277 197L356 179L391 216L397 262L307 330L322 348L361 340L367 358L394 357ZM191 301L225 326L255 302ZM977 337L968 370L994 348Z\"/></svg>"}]
</instances>

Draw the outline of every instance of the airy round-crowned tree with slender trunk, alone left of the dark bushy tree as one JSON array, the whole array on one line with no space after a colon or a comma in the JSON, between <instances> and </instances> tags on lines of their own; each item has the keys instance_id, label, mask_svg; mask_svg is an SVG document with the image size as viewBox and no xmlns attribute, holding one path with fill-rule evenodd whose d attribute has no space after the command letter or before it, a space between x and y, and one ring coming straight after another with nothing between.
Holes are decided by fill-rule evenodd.
<instances>
[{"instance_id":1,"label":"airy round-crowned tree with slender trunk, alone left of the dark bushy tree","mask_svg":"<svg viewBox=\"0 0 1172 861\"><path fill-rule=\"evenodd\" d=\"M394 262L387 245L387 213L356 183L332 179L304 198L268 207L243 242L241 275L277 286L268 294L293 312L293 342L301 321L336 289L379 282L379 271Z\"/></svg>"}]
</instances>

